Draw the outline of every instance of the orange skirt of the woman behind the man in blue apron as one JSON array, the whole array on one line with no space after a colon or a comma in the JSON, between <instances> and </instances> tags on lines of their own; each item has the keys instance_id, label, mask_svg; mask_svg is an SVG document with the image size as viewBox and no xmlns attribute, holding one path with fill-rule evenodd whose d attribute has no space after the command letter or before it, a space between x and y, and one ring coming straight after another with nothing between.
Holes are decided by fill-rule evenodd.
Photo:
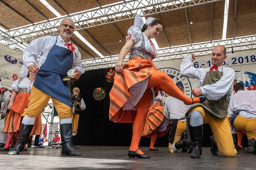
<instances>
[{"instance_id":1,"label":"orange skirt of the woman behind the man in blue apron","mask_svg":"<svg viewBox=\"0 0 256 170\"><path fill-rule=\"evenodd\" d=\"M24 109L28 108L30 93L18 93L10 108L7 120L4 125L3 132L18 132L22 118L20 115L24 113ZM42 131L41 115L38 115L30 135L39 135Z\"/></svg>"}]
</instances>

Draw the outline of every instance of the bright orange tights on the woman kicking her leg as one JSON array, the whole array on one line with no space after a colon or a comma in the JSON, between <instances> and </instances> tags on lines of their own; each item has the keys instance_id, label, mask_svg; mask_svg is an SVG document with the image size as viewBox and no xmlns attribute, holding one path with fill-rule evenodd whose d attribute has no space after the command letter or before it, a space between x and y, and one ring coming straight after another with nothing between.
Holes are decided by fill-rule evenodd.
<instances>
[{"instance_id":1,"label":"bright orange tights on the woman kicking her leg","mask_svg":"<svg viewBox=\"0 0 256 170\"><path fill-rule=\"evenodd\" d=\"M169 77L167 74L161 71L154 72L149 77L147 90L145 91L145 93L143 94L143 96L141 97L140 101L136 106L137 114L132 126L132 142L130 146L131 151L136 151L139 148L141 134L145 126L146 117L147 117L150 103L152 100L152 92L150 88L156 87L156 86L160 86L160 88L164 90L164 92L167 93L169 96L175 97L187 104L192 103L192 99L185 96L180 91L180 89L172 81L171 77ZM194 103L198 103L198 102L199 102L199 98L195 97ZM137 151L137 153L143 154L143 152L140 150Z\"/></svg>"}]
</instances>

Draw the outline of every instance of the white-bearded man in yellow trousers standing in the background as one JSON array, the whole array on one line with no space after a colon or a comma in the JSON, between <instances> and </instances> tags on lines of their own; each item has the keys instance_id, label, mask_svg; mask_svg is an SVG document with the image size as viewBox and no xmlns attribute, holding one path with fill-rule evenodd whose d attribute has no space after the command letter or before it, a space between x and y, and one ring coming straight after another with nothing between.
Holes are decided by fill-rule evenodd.
<instances>
[{"instance_id":1,"label":"white-bearded man in yellow trousers standing in the background","mask_svg":"<svg viewBox=\"0 0 256 170\"><path fill-rule=\"evenodd\" d=\"M73 93L71 94L71 99L73 103L73 131L72 131L72 147L74 147L74 140L76 138L76 133L77 133L77 127L78 127L78 121L79 121L79 115L80 113L83 112L85 109L85 103L84 99L79 95L80 89L78 87L75 87L73 89ZM76 103L76 105L75 105Z\"/></svg>"}]
</instances>

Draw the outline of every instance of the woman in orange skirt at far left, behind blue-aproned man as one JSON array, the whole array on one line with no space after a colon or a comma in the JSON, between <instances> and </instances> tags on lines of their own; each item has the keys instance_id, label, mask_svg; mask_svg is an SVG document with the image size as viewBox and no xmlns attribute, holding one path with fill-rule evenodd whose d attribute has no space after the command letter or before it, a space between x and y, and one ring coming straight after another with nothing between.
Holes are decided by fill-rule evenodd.
<instances>
[{"instance_id":1,"label":"woman in orange skirt at far left, behind blue-aproned man","mask_svg":"<svg viewBox=\"0 0 256 170\"><path fill-rule=\"evenodd\" d=\"M12 95L7 109L10 110L6 120L3 132L7 132L7 139L4 148L1 151L9 151L9 146L15 133L20 131L20 123L24 109L28 108L28 98L30 89L32 88L36 74L29 73L27 77L20 78L12 83ZM42 120L39 115L30 135L39 135L42 130ZM26 145L23 151L27 151Z\"/></svg>"}]
</instances>

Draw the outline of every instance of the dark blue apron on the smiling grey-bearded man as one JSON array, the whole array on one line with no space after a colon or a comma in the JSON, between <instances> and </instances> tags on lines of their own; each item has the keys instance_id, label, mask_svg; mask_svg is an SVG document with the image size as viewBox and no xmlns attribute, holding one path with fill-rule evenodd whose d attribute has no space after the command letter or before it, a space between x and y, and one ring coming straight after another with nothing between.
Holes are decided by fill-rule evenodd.
<instances>
[{"instance_id":1,"label":"dark blue apron on the smiling grey-bearded man","mask_svg":"<svg viewBox=\"0 0 256 170\"><path fill-rule=\"evenodd\" d=\"M63 81L68 70L73 66L73 51L56 46L49 51L44 64L37 71L34 86L36 89L52 96L72 109L69 81ZM54 116L56 115L56 110Z\"/></svg>"}]
</instances>

